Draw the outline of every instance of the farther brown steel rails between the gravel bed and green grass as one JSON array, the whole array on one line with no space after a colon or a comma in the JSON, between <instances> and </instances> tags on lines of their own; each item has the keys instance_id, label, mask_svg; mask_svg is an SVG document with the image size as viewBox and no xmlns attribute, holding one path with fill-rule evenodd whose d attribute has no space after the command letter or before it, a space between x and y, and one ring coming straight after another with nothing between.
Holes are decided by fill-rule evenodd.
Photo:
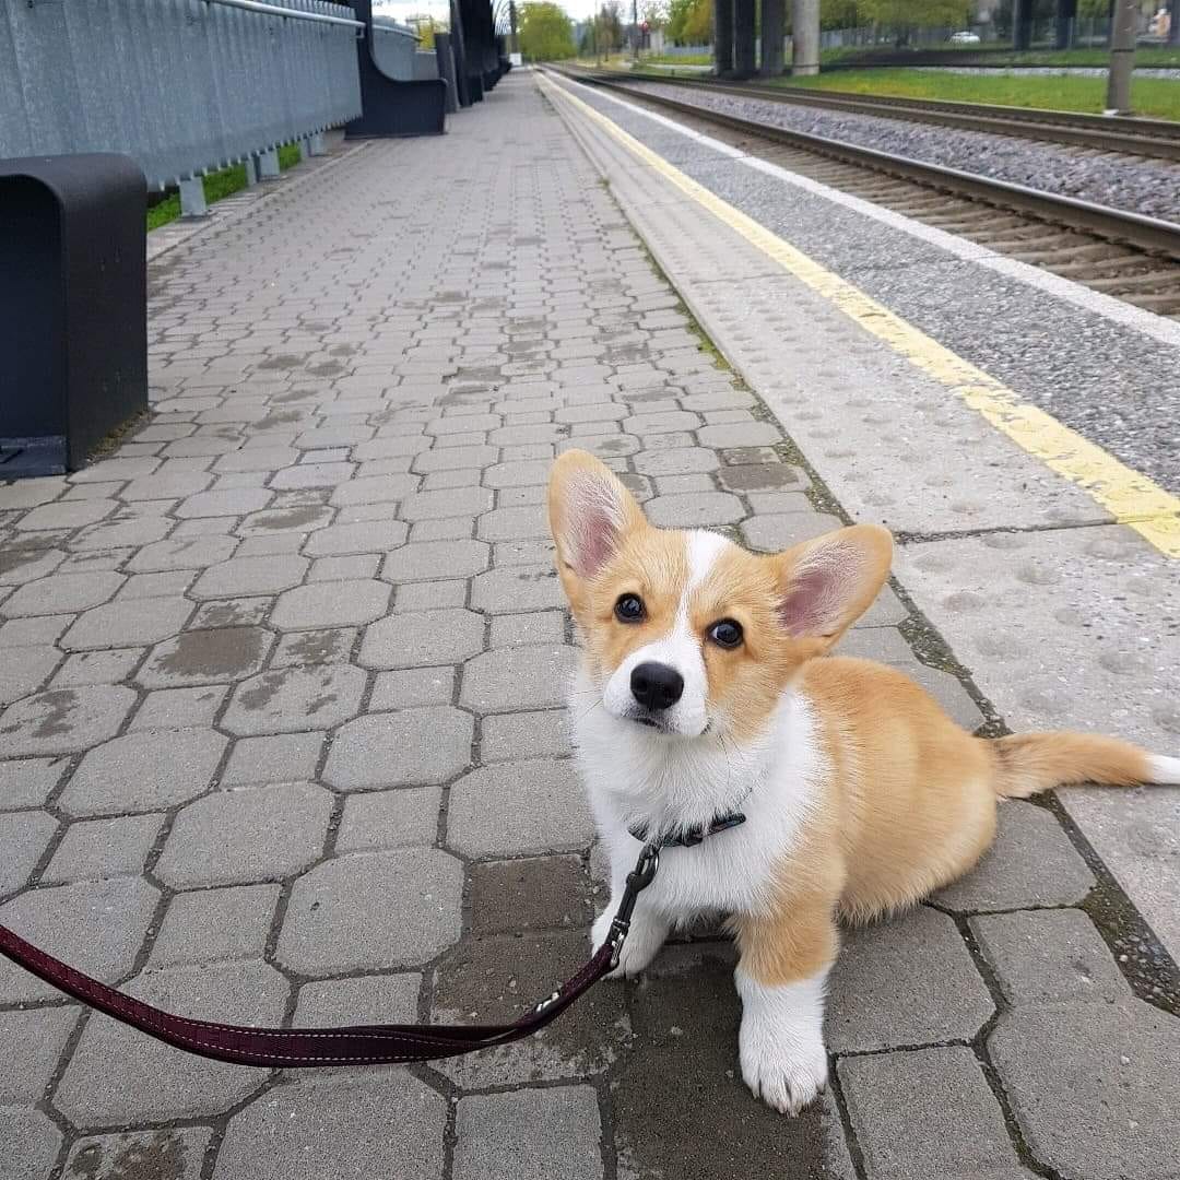
<instances>
[{"instance_id":1,"label":"farther brown steel rails between the gravel bed and green grass","mask_svg":"<svg viewBox=\"0 0 1180 1180\"><path fill-rule=\"evenodd\" d=\"M885 119L932 123L962 131L984 131L1048 143L1071 144L1096 151L1180 160L1180 123L1128 116L1087 114L1081 111L1040 111L1023 106L991 106L983 103L950 103L942 99L900 98L892 94L846 94L806 91L759 83L700 81L693 78L629 73L629 80L650 81L686 90L715 91L769 103L848 111Z\"/></svg>"}]
</instances>

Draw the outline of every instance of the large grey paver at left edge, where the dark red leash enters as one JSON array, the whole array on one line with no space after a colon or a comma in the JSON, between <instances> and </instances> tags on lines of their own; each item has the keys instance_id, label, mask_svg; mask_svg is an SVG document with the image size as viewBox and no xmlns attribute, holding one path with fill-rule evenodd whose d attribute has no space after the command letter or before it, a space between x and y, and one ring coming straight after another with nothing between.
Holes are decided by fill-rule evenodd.
<instances>
[{"instance_id":1,"label":"large grey paver at left edge, where the dark red leash enters","mask_svg":"<svg viewBox=\"0 0 1180 1180\"><path fill-rule=\"evenodd\" d=\"M0 906L0 925L104 983L125 976L148 933L157 890L140 877L27 890ZM61 992L0 959L0 1002L60 999Z\"/></svg>"}]
</instances>

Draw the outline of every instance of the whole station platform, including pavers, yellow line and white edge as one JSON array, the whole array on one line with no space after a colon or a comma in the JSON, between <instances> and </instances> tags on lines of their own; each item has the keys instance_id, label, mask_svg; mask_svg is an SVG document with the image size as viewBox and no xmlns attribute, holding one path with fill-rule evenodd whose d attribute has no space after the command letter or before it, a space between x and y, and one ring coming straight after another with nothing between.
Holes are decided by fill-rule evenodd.
<instances>
[{"instance_id":1,"label":"whole station platform, including pavers, yellow line and white edge","mask_svg":"<svg viewBox=\"0 0 1180 1180\"><path fill-rule=\"evenodd\" d=\"M605 903L543 509L570 445L657 524L889 525L841 650L968 728L1180 753L1175 324L553 76L450 135L178 235L150 421L0 485L0 923L204 1018L500 1021L568 977ZM0 1178L1173 1175L1180 792L1001 828L847 933L798 1117L741 1082L714 930L411 1069L197 1061L5 964Z\"/></svg>"}]
</instances>

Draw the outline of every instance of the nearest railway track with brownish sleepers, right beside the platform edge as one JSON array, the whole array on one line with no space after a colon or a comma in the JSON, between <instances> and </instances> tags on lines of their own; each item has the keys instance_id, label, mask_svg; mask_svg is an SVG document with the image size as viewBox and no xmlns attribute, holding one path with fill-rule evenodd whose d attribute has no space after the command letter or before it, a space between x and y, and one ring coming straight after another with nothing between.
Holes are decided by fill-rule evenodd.
<instances>
[{"instance_id":1,"label":"nearest railway track with brownish sleepers, right beside the platform edge","mask_svg":"<svg viewBox=\"0 0 1180 1180\"><path fill-rule=\"evenodd\" d=\"M1180 225L1172 222L740 118L601 74L557 72L673 112L841 192L1180 320Z\"/></svg>"}]
</instances>

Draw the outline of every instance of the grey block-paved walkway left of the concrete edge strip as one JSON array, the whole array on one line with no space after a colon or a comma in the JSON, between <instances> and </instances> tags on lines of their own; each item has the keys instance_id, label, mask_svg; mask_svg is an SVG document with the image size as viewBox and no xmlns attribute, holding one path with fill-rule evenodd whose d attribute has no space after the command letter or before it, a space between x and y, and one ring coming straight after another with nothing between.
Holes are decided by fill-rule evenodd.
<instances>
[{"instance_id":1,"label":"grey block-paved walkway left of the concrete edge strip","mask_svg":"<svg viewBox=\"0 0 1180 1180\"><path fill-rule=\"evenodd\" d=\"M191 1015L497 1021L583 959L560 448L663 524L839 523L533 80L451 127L156 258L149 421L0 485L0 922ZM984 722L894 590L845 648ZM0 1178L1153 1180L1180 1023L1136 930L1054 811L1005 805L970 879L850 932L833 1087L793 1120L736 1076L712 930L411 1070L201 1062L4 964Z\"/></svg>"}]
</instances>

